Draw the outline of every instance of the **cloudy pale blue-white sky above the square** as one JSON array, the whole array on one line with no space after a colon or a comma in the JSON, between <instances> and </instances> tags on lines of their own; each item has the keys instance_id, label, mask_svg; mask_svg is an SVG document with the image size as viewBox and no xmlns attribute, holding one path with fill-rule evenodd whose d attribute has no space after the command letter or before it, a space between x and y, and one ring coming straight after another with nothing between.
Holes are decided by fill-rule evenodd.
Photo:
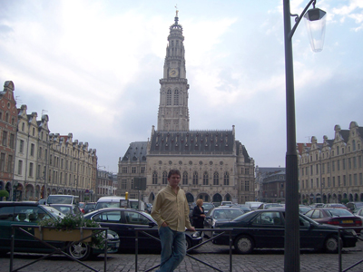
<instances>
[{"instance_id":1,"label":"cloudy pale blue-white sky above the square","mask_svg":"<svg viewBox=\"0 0 363 272\"><path fill-rule=\"evenodd\" d=\"M300 14L308 0L291 0ZM130 142L157 125L159 79L175 1L1 0L0 83L17 107L49 116L52 133L97 150L117 172ZM363 1L318 0L324 49L303 22L293 37L297 141L363 126ZM231 130L260 167L284 167L286 106L281 0L178 3L191 130ZM292 19L293 22L293 19Z\"/></svg>"}]
</instances>

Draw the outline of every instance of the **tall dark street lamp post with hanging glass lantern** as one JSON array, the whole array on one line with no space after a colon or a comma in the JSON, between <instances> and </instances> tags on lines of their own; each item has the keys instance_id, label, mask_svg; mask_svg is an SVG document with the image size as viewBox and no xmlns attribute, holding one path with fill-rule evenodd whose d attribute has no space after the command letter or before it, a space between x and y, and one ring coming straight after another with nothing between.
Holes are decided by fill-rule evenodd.
<instances>
[{"instance_id":1,"label":"tall dark street lamp post with hanging glass lantern","mask_svg":"<svg viewBox=\"0 0 363 272\"><path fill-rule=\"evenodd\" d=\"M286 152L286 225L285 225L285 259L284 270L298 272L299 261L299 177L298 156L296 152L296 125L295 125L295 98L294 98L294 73L292 59L292 36L302 17L314 23L325 19L325 12L315 8L316 0L309 1L301 15L296 16L296 23L291 29L289 0L283 1L284 35L285 35L285 75L286 75L286 127L287 127L287 152ZM307 10L313 4L313 9ZM321 26L321 25L320 25ZM325 30L325 24L323 24ZM315 30L313 25L311 30ZM322 31L323 32L323 31ZM320 31L321 34L321 31ZM319 52L319 44L312 34L310 41L314 52ZM324 34L322 35L324 36ZM322 46L323 43L320 43Z\"/></svg>"}]
</instances>

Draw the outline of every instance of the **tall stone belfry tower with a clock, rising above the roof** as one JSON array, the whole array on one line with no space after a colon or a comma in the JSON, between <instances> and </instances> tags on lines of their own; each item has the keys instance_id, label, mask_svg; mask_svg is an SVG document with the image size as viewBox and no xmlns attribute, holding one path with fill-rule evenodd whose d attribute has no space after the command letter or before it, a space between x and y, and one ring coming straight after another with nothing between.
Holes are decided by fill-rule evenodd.
<instances>
[{"instance_id":1,"label":"tall stone belfry tower with a clock, rising above the roof","mask_svg":"<svg viewBox=\"0 0 363 272\"><path fill-rule=\"evenodd\" d=\"M160 104L157 131L189 131L188 89L184 58L182 25L170 26L169 44L166 47L163 77L159 81Z\"/></svg>"}]
</instances>

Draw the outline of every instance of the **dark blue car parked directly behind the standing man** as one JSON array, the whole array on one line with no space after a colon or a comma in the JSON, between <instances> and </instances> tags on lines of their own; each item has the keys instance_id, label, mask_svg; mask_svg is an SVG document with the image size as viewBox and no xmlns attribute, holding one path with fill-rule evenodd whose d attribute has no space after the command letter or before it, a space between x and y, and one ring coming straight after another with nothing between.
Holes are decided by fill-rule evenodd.
<instances>
[{"instance_id":1,"label":"dark blue car parked directly behind the standing man","mask_svg":"<svg viewBox=\"0 0 363 272\"><path fill-rule=\"evenodd\" d=\"M144 211L124 208L97 209L84 215L84 218L100 222L103 228L109 228L116 232L122 241L119 249L135 248L135 228L150 228L153 231L148 233L159 238L156 221L152 219L150 214ZM186 231L185 234L187 248L201 243L201 234L198 231L194 233ZM162 249L160 241L150 238L141 232L138 234L138 243L140 249Z\"/></svg>"}]
</instances>

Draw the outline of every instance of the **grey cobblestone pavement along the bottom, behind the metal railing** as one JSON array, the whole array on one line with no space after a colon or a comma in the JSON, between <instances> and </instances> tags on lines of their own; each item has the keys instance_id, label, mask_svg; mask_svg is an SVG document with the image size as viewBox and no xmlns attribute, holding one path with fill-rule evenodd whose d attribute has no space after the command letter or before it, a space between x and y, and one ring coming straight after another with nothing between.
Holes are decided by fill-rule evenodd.
<instances>
[{"instance_id":1,"label":"grey cobblestone pavement along the bottom, behind the metal railing","mask_svg":"<svg viewBox=\"0 0 363 272\"><path fill-rule=\"evenodd\" d=\"M363 258L363 242L358 242L356 248L344 248L342 255L343 268L358 262ZM232 271L283 271L284 254L283 250L255 250L250 255L232 255ZM202 261L218 267L222 271L230 271L229 248L215 246L212 244L203 245L201 248L191 253L192 257L197 257ZM34 261L37 255L16 254L14 268L24 266ZM160 255L143 253L138 255L138 271L145 271L157 266ZM95 257L93 260L85 262L88 266L103 271L103 256ZM10 267L10 255L0 257L0 272L8 272ZM71 272L71 271L92 271L83 267L66 257L56 256L41 260L30 267L25 267L20 271L29 272ZM132 252L123 254L111 254L107 258L107 271L135 271L135 255ZM155 271L155 270L152 270ZM182 264L175 271L213 271L191 257L185 257ZM216 271L216 270L214 270ZM325 254L315 251L303 250L300 254L300 271L338 271L338 254ZM349 271L363 271L363 265L358 265Z\"/></svg>"}]
</instances>

